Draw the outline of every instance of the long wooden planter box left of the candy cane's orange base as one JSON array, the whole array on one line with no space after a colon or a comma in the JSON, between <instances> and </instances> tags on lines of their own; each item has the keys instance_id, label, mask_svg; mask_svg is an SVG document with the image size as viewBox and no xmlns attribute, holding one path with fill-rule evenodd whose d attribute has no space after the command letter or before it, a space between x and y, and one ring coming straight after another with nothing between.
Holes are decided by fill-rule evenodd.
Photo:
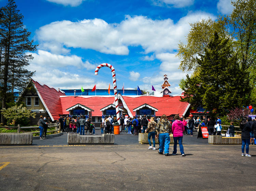
<instances>
[{"instance_id":1,"label":"long wooden planter box left of the candy cane's orange base","mask_svg":"<svg viewBox=\"0 0 256 191\"><path fill-rule=\"evenodd\" d=\"M80 135L68 134L68 144L114 144L114 134Z\"/></svg>"}]
</instances>

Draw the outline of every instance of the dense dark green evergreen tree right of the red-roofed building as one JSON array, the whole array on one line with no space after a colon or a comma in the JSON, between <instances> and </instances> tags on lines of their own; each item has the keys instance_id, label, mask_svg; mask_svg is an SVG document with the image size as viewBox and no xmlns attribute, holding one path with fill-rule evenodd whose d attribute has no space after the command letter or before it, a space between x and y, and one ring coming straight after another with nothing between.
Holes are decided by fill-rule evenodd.
<instances>
[{"instance_id":1,"label":"dense dark green evergreen tree right of the red-roofed building","mask_svg":"<svg viewBox=\"0 0 256 191\"><path fill-rule=\"evenodd\" d=\"M197 58L197 75L187 75L182 86L185 97L181 101L190 103L194 109L203 106L212 116L241 107L248 102L250 93L249 75L240 69L228 41L215 32L204 54Z\"/></svg>"}]
</instances>

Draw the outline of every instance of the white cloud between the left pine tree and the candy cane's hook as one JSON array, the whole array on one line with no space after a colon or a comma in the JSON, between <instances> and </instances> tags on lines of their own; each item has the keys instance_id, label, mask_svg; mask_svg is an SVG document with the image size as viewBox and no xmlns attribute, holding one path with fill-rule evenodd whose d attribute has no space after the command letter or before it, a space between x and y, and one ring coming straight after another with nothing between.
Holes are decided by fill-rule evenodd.
<instances>
[{"instance_id":1,"label":"white cloud between the left pine tree and the candy cane's hook","mask_svg":"<svg viewBox=\"0 0 256 191\"><path fill-rule=\"evenodd\" d=\"M93 65L88 62L82 61L82 58L76 55L63 56L59 54L52 54L50 52L44 50L38 50L38 53L31 53L34 59L32 60L30 69L33 71L35 66L35 70L37 66L43 66L45 68L60 68L73 66L76 68L86 68L88 70L92 70L96 68L96 65Z\"/></svg>"}]
</instances>

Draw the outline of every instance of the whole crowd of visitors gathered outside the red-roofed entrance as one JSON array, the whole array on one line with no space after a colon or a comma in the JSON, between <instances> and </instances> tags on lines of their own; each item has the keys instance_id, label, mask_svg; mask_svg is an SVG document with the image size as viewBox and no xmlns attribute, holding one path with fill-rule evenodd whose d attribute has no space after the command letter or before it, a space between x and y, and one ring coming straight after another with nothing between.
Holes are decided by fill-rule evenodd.
<instances>
[{"instance_id":1,"label":"whole crowd of visitors gathered outside the red-roofed entrance","mask_svg":"<svg viewBox=\"0 0 256 191\"><path fill-rule=\"evenodd\" d=\"M90 135L95 135L95 125L91 122L91 118L85 119L85 116L78 117L63 117L59 118L60 129L62 132L67 133L77 133L80 135L87 135L89 131ZM116 117L114 119L111 116L106 116L100 124L101 134L112 134L114 132L114 124L117 122ZM146 115L129 118L128 116L120 118L120 127L124 133L131 135L139 135L139 133L148 133L148 149L156 150L155 148L155 137L159 140L159 154L169 155L169 135L173 134L173 152L172 155L177 153L177 142L179 142L181 156L185 156L184 148L182 145L183 135L193 136L194 129L198 129L199 126L207 126L209 135L222 135L222 121L219 117L216 120L212 118L205 118L200 120L193 117L192 114L189 117L180 118L179 115L175 115L172 121L169 121L166 115L162 115L161 118L150 117L147 118ZM234 123L231 121L230 126L227 130L227 136L234 137L235 128ZM48 123L46 122L46 117L40 116L39 129L40 129L40 139L46 138L46 132L48 128ZM240 123L241 138L242 138L242 156L251 157L249 155L249 144L254 144L254 138L256 137L256 121L252 121L251 117L244 117ZM86 131L85 131L86 130ZM44 135L44 136L43 136ZM151 138L153 141L153 146L151 144ZM244 149L246 153L244 154Z\"/></svg>"}]
</instances>

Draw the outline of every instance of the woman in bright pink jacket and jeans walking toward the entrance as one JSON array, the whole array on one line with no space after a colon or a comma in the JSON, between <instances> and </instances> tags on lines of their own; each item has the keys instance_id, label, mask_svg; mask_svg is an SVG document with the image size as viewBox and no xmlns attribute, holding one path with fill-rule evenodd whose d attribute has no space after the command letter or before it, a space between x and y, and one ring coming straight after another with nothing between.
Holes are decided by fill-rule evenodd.
<instances>
[{"instance_id":1,"label":"woman in bright pink jacket and jeans walking toward the entrance","mask_svg":"<svg viewBox=\"0 0 256 191\"><path fill-rule=\"evenodd\" d=\"M179 115L174 116L175 121L172 123L172 134L173 134L173 152L172 155L176 155L177 153L177 141L179 141L181 156L185 156L183 145L182 145L182 138L184 132L184 125L180 120Z\"/></svg>"}]
</instances>

